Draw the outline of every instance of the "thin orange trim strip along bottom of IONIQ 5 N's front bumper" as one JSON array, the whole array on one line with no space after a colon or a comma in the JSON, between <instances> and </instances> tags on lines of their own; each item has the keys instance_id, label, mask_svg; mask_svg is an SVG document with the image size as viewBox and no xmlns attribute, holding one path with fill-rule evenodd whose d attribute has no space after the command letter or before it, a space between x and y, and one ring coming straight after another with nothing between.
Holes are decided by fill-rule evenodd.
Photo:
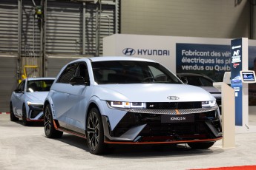
<instances>
[{"instance_id":1,"label":"thin orange trim strip along bottom of IONIQ 5 N's front bumper","mask_svg":"<svg viewBox=\"0 0 256 170\"><path fill-rule=\"evenodd\" d=\"M104 143L108 144L133 144L133 145L143 145L143 144L165 144L165 143L194 143L194 142L207 142L207 141L216 141L220 140L223 137L217 137L215 139L203 139L203 140L175 140L175 141L165 141L165 142L114 142L114 141L104 141Z\"/></svg>"}]
</instances>

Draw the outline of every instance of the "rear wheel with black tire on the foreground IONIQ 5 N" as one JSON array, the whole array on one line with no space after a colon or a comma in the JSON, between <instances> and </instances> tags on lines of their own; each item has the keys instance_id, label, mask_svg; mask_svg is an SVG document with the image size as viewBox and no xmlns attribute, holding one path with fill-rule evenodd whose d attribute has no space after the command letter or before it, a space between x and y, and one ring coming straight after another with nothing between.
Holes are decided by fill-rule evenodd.
<instances>
[{"instance_id":1,"label":"rear wheel with black tire on the foreground IONIQ 5 N","mask_svg":"<svg viewBox=\"0 0 256 170\"><path fill-rule=\"evenodd\" d=\"M47 138L60 138L63 135L63 132L58 131L54 128L53 116L51 113L50 105L45 106L44 128L45 128L45 136Z\"/></svg>"}]
</instances>

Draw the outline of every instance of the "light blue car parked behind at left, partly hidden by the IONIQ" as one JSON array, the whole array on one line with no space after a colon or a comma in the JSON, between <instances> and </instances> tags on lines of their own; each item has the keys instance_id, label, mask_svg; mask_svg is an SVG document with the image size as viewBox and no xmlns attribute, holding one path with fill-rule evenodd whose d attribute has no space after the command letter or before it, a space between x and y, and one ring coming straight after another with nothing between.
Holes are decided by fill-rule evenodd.
<instances>
[{"instance_id":1,"label":"light blue car parked behind at left, partly hidden by the IONIQ","mask_svg":"<svg viewBox=\"0 0 256 170\"><path fill-rule=\"evenodd\" d=\"M10 120L22 119L24 126L31 121L43 121L43 104L55 78L26 78L10 98Z\"/></svg>"}]
</instances>

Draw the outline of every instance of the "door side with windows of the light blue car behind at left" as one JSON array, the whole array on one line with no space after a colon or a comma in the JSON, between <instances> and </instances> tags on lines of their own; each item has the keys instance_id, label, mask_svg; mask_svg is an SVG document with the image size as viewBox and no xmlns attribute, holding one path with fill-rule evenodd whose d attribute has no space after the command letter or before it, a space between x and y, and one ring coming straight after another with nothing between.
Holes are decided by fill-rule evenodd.
<instances>
[{"instance_id":1,"label":"door side with windows of the light blue car behind at left","mask_svg":"<svg viewBox=\"0 0 256 170\"><path fill-rule=\"evenodd\" d=\"M25 88L26 80L22 81L19 84L17 89L13 92L13 112L16 115L22 116L22 105L24 102L24 88Z\"/></svg>"}]
</instances>

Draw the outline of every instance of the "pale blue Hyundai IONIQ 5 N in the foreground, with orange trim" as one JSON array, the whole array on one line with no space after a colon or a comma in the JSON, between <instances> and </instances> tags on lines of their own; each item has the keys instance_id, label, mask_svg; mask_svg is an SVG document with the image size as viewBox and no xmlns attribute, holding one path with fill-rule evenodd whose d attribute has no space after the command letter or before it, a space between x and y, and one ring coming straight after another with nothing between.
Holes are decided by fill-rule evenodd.
<instances>
[{"instance_id":1,"label":"pale blue Hyundai IONIQ 5 N in the foreground, with orange trim","mask_svg":"<svg viewBox=\"0 0 256 170\"><path fill-rule=\"evenodd\" d=\"M92 154L118 143L188 143L207 149L222 138L215 98L142 58L70 62L51 86L44 115L46 137L63 132L85 137Z\"/></svg>"}]
</instances>

